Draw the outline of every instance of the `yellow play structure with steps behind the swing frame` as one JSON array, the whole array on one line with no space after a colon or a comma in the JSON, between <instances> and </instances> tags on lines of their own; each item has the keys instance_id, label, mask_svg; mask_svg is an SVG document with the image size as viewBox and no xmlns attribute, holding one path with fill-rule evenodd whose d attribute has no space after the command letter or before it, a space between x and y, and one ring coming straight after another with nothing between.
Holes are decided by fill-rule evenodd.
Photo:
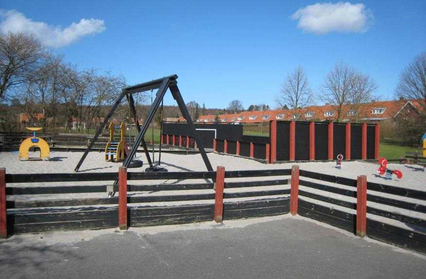
<instances>
[{"instance_id":1,"label":"yellow play structure with steps behind the swing frame","mask_svg":"<svg viewBox=\"0 0 426 279\"><path fill-rule=\"evenodd\" d=\"M105 146L105 160L109 162L120 162L129 154L127 141L124 140L126 125L121 122L120 126L109 123L109 141ZM120 132L120 140L114 140L115 132Z\"/></svg>"}]
</instances>

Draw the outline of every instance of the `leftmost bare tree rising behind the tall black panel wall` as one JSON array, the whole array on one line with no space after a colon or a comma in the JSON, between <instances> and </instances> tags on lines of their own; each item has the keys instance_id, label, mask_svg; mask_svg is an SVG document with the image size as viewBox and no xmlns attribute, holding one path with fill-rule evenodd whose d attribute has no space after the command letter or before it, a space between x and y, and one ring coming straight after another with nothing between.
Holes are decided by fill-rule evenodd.
<instances>
[{"instance_id":1,"label":"leftmost bare tree rising behind the tall black panel wall","mask_svg":"<svg viewBox=\"0 0 426 279\"><path fill-rule=\"evenodd\" d=\"M280 94L275 97L275 103L280 108L289 107L293 110L296 120L300 118L299 110L312 105L313 100L314 94L302 66L287 75Z\"/></svg>"}]
</instances>

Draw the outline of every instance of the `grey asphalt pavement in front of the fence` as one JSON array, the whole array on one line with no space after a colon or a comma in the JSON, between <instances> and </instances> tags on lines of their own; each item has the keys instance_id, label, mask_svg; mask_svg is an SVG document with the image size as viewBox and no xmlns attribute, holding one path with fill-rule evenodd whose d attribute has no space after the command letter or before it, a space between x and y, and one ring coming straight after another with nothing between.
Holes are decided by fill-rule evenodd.
<instances>
[{"instance_id":1,"label":"grey asphalt pavement in front of the fence","mask_svg":"<svg viewBox=\"0 0 426 279\"><path fill-rule=\"evenodd\" d=\"M0 278L425 278L423 256L283 218L155 234L98 231L71 244L13 236L0 242Z\"/></svg>"}]
</instances>

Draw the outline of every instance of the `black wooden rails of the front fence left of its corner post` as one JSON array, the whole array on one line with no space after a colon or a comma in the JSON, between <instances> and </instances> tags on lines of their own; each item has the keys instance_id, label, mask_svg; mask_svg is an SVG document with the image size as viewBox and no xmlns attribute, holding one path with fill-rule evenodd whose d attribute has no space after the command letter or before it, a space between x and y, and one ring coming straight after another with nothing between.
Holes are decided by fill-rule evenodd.
<instances>
[{"instance_id":1,"label":"black wooden rails of the front fence left of its corner post","mask_svg":"<svg viewBox=\"0 0 426 279\"><path fill-rule=\"evenodd\" d=\"M124 196L125 212L128 216L127 226L153 226L166 224L190 223L194 221L213 220L215 204L203 204L206 200L215 199L217 193L189 194L186 190L213 190L213 180L217 181L217 172L170 172L170 173L125 173L120 177L117 173L72 173L72 174L6 174L0 169L0 196L8 197L1 203L6 221L0 224L6 227L7 234L29 233L51 230L74 229L98 229L118 227L119 211L124 207L120 196ZM222 199L247 198L258 199L240 202L225 202L222 204L222 216L227 219L246 218L256 216L268 216L288 213L290 190L286 189L288 179L277 176L286 176L290 170L261 170L261 171L230 171L224 172L224 178L239 177L265 177L259 182L231 181L223 179L226 188L247 188L262 186L283 185L280 190L259 190L241 192L222 192ZM267 177L271 176L270 179ZM113 185L113 181L120 178L120 183L125 179L125 192L119 185ZM278 179L277 179L278 178ZM2 179L2 181L1 181ZM188 183L188 184L127 184L136 180L170 180L170 179L211 179L212 182ZM106 185L76 185L76 186L27 186L36 182L84 182L106 181ZM6 185L17 183L9 187ZM19 184L25 183L24 187ZM3 186L1 186L3 185ZM106 193L118 192L118 196L111 198L70 198L70 199L14 199L17 195L43 195L43 194L81 194L81 193ZM157 192L157 191L181 191L179 194L170 195L127 195L127 192ZM217 191L216 191L217 192ZM268 198L268 196L282 196ZM149 206L144 205L153 202L181 202L200 201L196 205L178 206ZM204 201L204 202L203 202ZM129 204L129 207L127 207ZM142 205L141 205L142 204ZM3 211L2 211L3 212ZM241 216L241 217L239 217ZM3 228L4 230L4 228Z\"/></svg>"}]
</instances>

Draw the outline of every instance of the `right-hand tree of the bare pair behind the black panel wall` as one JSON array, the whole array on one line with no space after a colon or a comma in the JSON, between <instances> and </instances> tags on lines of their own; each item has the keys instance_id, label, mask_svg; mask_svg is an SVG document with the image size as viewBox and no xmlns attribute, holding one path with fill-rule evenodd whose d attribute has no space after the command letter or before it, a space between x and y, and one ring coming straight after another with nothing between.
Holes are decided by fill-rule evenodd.
<instances>
[{"instance_id":1,"label":"right-hand tree of the bare pair behind the black panel wall","mask_svg":"<svg viewBox=\"0 0 426 279\"><path fill-rule=\"evenodd\" d=\"M373 94L376 90L376 83L368 74L354 72L351 78L351 93L348 97L350 105L348 116L356 121L365 117L365 111L361 111L361 106L370 103L375 98Z\"/></svg>"}]
</instances>

